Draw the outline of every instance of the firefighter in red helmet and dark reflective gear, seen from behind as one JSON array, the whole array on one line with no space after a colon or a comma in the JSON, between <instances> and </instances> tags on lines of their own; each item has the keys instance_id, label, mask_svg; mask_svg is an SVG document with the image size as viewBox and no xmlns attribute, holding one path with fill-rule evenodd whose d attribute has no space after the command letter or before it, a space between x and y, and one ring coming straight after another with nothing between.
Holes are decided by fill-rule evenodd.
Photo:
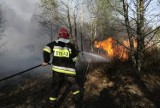
<instances>
[{"instance_id":1,"label":"firefighter in red helmet and dark reflective gear, seen from behind","mask_svg":"<svg viewBox=\"0 0 160 108\"><path fill-rule=\"evenodd\" d=\"M56 106L59 91L63 88L63 82L67 82L72 91L74 100L78 100L80 90L76 82L75 62L78 59L78 51L69 42L69 33L66 28L58 32L58 39L47 44L43 49L44 61L42 66L47 66L52 57L52 83L51 96L49 97L52 106ZM76 102L77 103L77 102Z\"/></svg>"}]
</instances>

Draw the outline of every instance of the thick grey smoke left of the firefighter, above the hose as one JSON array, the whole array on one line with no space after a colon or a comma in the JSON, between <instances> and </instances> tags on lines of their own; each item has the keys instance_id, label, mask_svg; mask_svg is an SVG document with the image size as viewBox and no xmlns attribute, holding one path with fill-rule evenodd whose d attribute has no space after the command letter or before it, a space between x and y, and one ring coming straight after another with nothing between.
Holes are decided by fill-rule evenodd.
<instances>
[{"instance_id":1,"label":"thick grey smoke left of the firefighter, above the hose","mask_svg":"<svg viewBox=\"0 0 160 108\"><path fill-rule=\"evenodd\" d=\"M6 52L0 56L0 75L16 73L42 62L45 34L34 20L39 0L4 0ZM1 78L0 77L0 78Z\"/></svg>"}]
</instances>

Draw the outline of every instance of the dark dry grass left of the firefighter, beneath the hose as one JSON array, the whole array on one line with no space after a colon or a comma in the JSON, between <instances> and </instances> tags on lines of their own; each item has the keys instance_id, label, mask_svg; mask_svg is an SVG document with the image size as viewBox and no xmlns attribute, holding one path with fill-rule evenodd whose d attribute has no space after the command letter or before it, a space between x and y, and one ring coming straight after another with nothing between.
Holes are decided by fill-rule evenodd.
<instances>
[{"instance_id":1,"label":"dark dry grass left of the firefighter, beneath the hose","mask_svg":"<svg viewBox=\"0 0 160 108\"><path fill-rule=\"evenodd\" d=\"M10 83L10 86L1 87L3 91L0 92L0 107L41 108L45 106L49 95L49 80L41 75L17 80L20 80L17 84L6 82L6 84Z\"/></svg>"}]
</instances>

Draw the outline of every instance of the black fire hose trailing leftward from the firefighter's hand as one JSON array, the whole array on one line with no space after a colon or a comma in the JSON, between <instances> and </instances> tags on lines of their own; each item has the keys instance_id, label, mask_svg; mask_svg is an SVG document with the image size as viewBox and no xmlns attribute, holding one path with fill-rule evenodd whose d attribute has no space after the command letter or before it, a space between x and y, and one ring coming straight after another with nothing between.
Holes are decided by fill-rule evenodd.
<instances>
[{"instance_id":1,"label":"black fire hose trailing leftward from the firefighter's hand","mask_svg":"<svg viewBox=\"0 0 160 108\"><path fill-rule=\"evenodd\" d=\"M25 73L25 72L28 72L28 71L33 70L33 69L35 69L35 68L38 68L38 67L40 67L40 66L42 66L42 64L39 64L39 65L34 66L34 67L32 67L32 68L29 68L29 69L26 69L26 70L24 70L24 71L18 72L18 73L16 73L16 74L10 75L10 76L8 76L8 77L2 78L2 79L0 79L0 82L1 82L1 81L4 81L4 80L7 80L7 79L10 79L10 78L12 78L12 77L15 77L15 76L17 76L17 75L23 74L23 73Z\"/></svg>"}]
</instances>

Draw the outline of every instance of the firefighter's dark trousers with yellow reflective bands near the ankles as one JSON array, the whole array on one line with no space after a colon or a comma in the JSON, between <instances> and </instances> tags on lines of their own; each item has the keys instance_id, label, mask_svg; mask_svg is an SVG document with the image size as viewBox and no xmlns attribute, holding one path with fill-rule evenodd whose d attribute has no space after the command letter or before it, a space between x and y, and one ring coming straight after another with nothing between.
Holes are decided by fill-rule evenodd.
<instances>
[{"instance_id":1,"label":"firefighter's dark trousers with yellow reflective bands near the ankles","mask_svg":"<svg viewBox=\"0 0 160 108\"><path fill-rule=\"evenodd\" d=\"M79 85L76 82L76 77L64 73L53 71L51 83L51 98L57 100L59 93L64 89L64 85L68 85L73 94L73 97L79 98Z\"/></svg>"}]
</instances>

